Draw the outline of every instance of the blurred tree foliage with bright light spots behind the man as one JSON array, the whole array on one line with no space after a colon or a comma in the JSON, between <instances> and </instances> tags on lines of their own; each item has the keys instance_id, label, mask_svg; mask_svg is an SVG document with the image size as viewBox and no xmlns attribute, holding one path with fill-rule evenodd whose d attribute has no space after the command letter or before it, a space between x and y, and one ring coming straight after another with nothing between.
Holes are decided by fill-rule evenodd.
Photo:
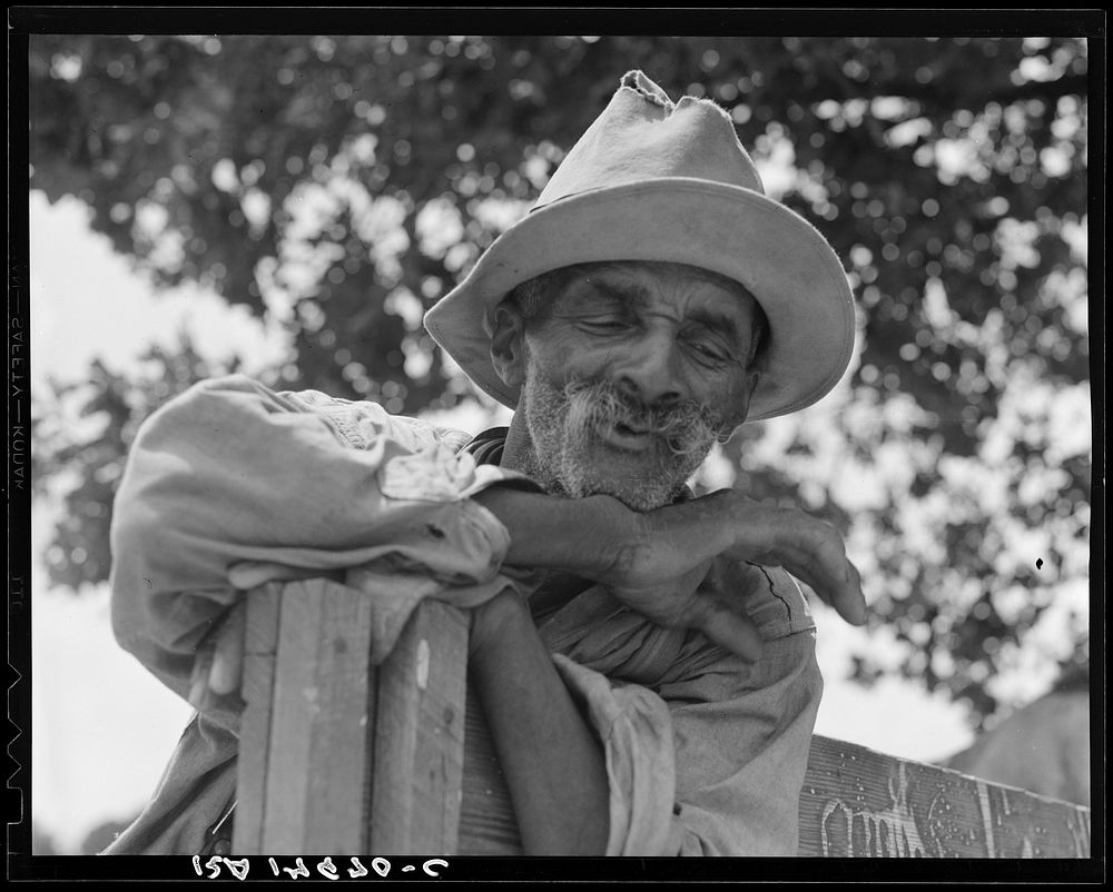
<instances>
[{"instance_id":1,"label":"blurred tree foliage with bright light spots behind the man","mask_svg":"<svg viewBox=\"0 0 1113 892\"><path fill-rule=\"evenodd\" d=\"M631 68L713 98L760 167L789 166L771 191L860 298L837 410L748 426L719 456L728 483L867 556L876 631L905 657L866 651L859 678L922 678L981 717L1033 641L1050 665L1084 660L1084 615L1071 647L1040 644L1089 574L1083 40L36 36L31 186L86 201L160 285L287 319L272 383L447 408L471 390L421 313ZM36 430L36 479L71 480L58 583L106 577L137 423L225 370L188 345L147 359L142 379L98 366L70 394L95 435Z\"/></svg>"}]
</instances>

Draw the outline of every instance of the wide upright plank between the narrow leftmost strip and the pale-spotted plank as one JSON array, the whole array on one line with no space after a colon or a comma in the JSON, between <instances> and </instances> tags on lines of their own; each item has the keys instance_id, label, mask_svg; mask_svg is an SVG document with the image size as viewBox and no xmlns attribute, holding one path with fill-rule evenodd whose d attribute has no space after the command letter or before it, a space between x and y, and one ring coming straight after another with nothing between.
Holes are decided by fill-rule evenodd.
<instances>
[{"instance_id":1,"label":"wide upright plank between the narrow leftmost strip and the pale-spotted plank","mask_svg":"<svg viewBox=\"0 0 1113 892\"><path fill-rule=\"evenodd\" d=\"M362 854L371 605L326 581L283 589L264 803L267 854Z\"/></svg>"}]
</instances>

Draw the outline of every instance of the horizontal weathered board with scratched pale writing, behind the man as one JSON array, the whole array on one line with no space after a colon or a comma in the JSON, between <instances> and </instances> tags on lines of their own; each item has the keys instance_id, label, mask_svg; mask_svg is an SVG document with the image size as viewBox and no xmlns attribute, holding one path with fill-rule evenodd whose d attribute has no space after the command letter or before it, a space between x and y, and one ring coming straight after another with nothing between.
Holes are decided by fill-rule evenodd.
<instances>
[{"instance_id":1,"label":"horizontal weathered board with scratched pale writing, behind the man","mask_svg":"<svg viewBox=\"0 0 1113 892\"><path fill-rule=\"evenodd\" d=\"M799 853L820 858L1089 858L1090 810L815 737Z\"/></svg>"}]
</instances>

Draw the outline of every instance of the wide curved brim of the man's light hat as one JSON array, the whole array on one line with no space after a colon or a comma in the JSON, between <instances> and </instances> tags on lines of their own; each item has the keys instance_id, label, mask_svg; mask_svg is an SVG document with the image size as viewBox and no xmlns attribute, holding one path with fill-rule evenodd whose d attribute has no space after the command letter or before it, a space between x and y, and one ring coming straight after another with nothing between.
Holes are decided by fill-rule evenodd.
<instances>
[{"instance_id":1,"label":"wide curved brim of the man's light hat","mask_svg":"<svg viewBox=\"0 0 1113 892\"><path fill-rule=\"evenodd\" d=\"M425 327L484 393L511 408L491 363L490 314L518 285L592 261L688 264L741 283L769 320L768 353L748 420L810 406L838 383L854 349L854 298L819 231L760 192L682 177L562 198L503 232Z\"/></svg>"}]
</instances>

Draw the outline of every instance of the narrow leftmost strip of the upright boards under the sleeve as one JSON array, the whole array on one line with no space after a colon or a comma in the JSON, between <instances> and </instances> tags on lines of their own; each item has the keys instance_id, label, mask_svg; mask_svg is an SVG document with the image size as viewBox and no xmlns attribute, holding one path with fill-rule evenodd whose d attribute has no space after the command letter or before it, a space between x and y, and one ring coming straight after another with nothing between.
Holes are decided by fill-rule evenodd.
<instances>
[{"instance_id":1,"label":"narrow leftmost strip of the upright boards under the sleeve","mask_svg":"<svg viewBox=\"0 0 1113 892\"><path fill-rule=\"evenodd\" d=\"M247 593L246 598L242 687L246 705L239 723L233 851L237 854L257 855L263 854L263 814L280 587L275 584L266 585Z\"/></svg>"}]
</instances>

